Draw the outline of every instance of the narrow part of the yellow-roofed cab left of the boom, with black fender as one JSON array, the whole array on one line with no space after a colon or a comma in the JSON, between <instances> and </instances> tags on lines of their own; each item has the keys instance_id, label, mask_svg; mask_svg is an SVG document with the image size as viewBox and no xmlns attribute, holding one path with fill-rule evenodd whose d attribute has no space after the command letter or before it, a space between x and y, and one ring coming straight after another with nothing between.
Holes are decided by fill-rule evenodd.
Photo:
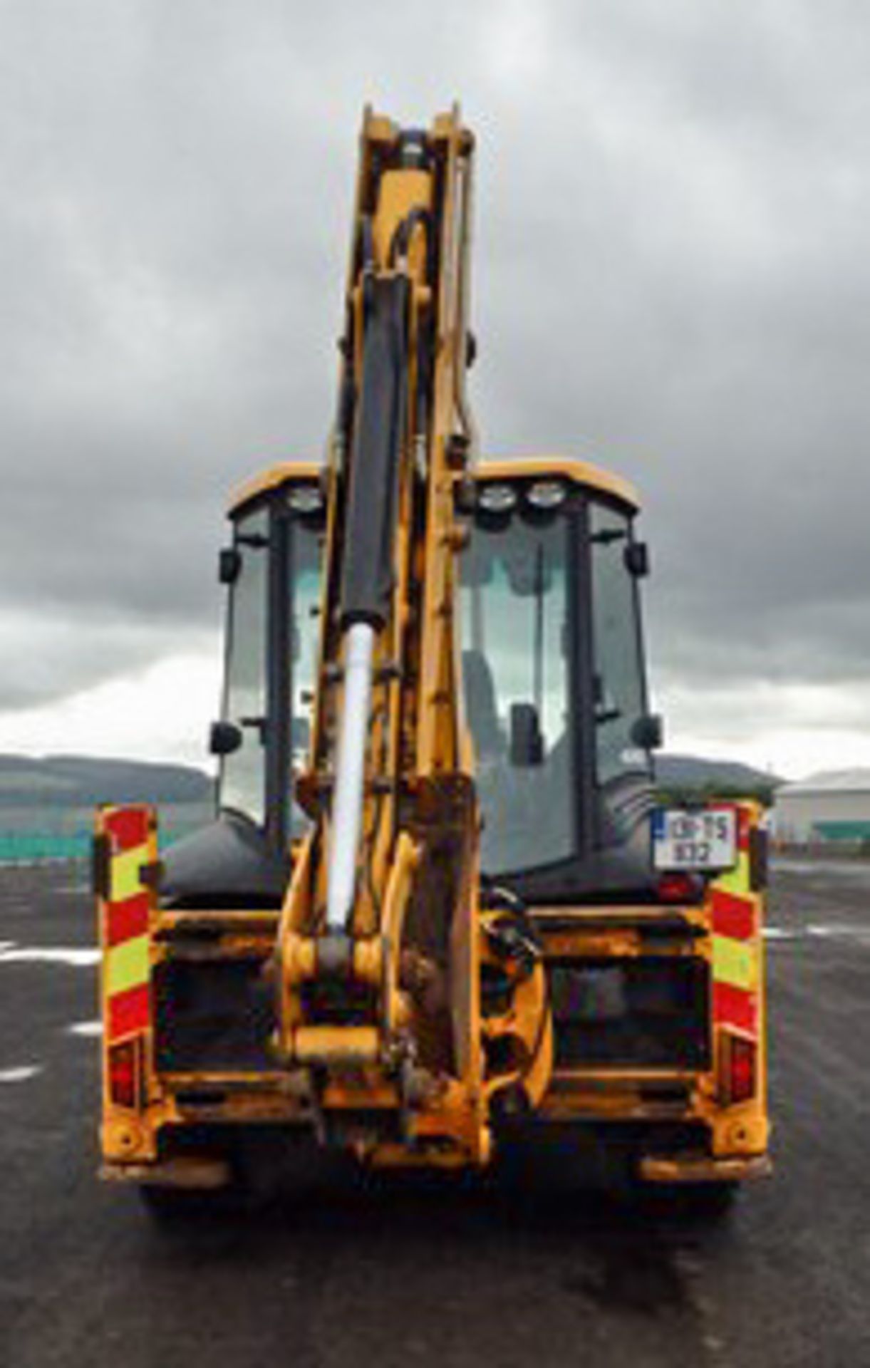
<instances>
[{"instance_id":1,"label":"narrow part of the yellow-roofed cab left of the boom, with black fender","mask_svg":"<svg viewBox=\"0 0 870 1368\"><path fill-rule=\"evenodd\" d=\"M238 491L230 520L224 683L211 737L218 818L167 851L163 891L172 906L278 907L306 824L294 781L308 757L320 635L320 468L269 469Z\"/></svg>"}]
</instances>

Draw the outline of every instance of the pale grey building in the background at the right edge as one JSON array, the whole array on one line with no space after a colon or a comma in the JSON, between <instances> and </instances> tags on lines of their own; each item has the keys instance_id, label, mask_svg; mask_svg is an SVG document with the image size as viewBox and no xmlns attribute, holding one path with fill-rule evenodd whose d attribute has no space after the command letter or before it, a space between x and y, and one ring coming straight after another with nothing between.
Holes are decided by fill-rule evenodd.
<instances>
[{"instance_id":1,"label":"pale grey building in the background at the right edge","mask_svg":"<svg viewBox=\"0 0 870 1368\"><path fill-rule=\"evenodd\" d=\"M829 770L777 789L780 845L870 844L870 769Z\"/></svg>"}]
</instances>

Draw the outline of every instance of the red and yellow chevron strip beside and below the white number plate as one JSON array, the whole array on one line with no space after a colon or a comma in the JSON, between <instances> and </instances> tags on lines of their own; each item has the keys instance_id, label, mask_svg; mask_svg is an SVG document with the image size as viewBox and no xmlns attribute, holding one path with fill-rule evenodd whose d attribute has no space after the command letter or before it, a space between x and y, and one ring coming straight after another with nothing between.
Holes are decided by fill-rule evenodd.
<instances>
[{"instance_id":1,"label":"red and yellow chevron strip beside and below the white number plate","mask_svg":"<svg viewBox=\"0 0 870 1368\"><path fill-rule=\"evenodd\" d=\"M735 1026L752 1038L759 1029L761 899L750 876L752 808L735 804L737 863L711 888L713 911L713 1019Z\"/></svg>"}]
</instances>

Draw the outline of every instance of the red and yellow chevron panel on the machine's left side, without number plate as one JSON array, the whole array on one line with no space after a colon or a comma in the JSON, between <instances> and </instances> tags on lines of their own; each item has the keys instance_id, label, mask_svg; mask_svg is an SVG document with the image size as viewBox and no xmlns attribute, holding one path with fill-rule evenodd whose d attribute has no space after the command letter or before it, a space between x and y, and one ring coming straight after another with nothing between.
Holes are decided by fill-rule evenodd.
<instances>
[{"instance_id":1,"label":"red and yellow chevron panel on the machine's left side, without number plate","mask_svg":"<svg viewBox=\"0 0 870 1368\"><path fill-rule=\"evenodd\" d=\"M150 807L101 808L97 841L105 865L100 912L104 1031L109 1045L150 1023L148 922L153 892L142 881L142 870L157 858Z\"/></svg>"}]
</instances>

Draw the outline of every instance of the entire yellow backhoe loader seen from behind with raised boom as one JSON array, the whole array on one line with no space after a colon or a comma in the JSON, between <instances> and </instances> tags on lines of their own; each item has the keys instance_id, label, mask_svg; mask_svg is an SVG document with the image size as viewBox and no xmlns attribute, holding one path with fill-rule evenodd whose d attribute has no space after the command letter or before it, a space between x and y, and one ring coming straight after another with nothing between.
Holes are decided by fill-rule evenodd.
<instances>
[{"instance_id":1,"label":"entire yellow backhoe loader seen from behind with raised boom","mask_svg":"<svg viewBox=\"0 0 870 1368\"><path fill-rule=\"evenodd\" d=\"M98 815L105 1176L220 1186L252 1137L766 1171L761 813L654 808L631 487L479 458L472 160L367 111L328 465L230 509L216 819L159 863Z\"/></svg>"}]
</instances>

